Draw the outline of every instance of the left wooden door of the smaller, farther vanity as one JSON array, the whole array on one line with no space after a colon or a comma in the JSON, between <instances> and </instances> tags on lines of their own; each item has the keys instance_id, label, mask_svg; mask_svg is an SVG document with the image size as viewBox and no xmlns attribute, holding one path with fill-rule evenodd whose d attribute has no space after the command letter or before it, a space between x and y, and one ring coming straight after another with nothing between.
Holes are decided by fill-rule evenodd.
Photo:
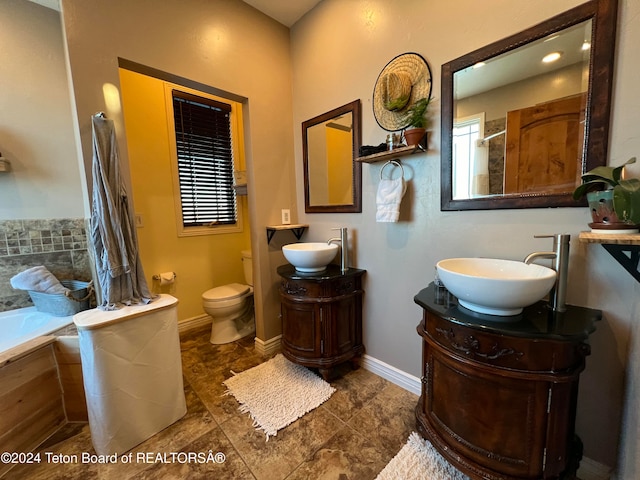
<instances>
[{"instance_id":1,"label":"left wooden door of the smaller, farther vanity","mask_svg":"<svg viewBox=\"0 0 640 480\"><path fill-rule=\"evenodd\" d=\"M285 348L299 357L316 358L321 355L320 307L282 298L281 308Z\"/></svg>"}]
</instances>

